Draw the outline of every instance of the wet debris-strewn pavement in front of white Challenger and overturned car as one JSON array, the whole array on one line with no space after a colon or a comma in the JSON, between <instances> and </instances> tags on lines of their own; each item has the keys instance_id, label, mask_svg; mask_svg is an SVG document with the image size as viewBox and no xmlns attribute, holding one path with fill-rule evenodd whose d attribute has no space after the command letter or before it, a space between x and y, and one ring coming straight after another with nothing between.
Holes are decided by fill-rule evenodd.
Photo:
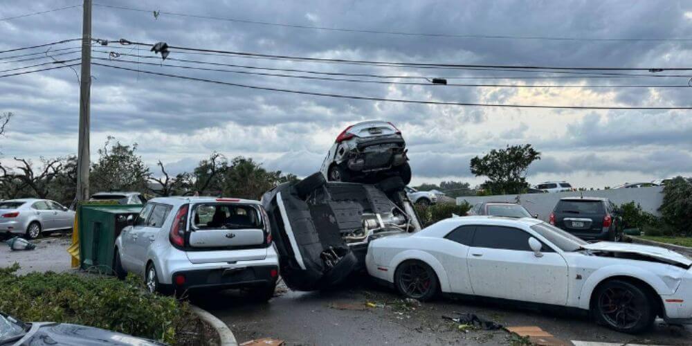
<instances>
[{"instance_id":1,"label":"wet debris-strewn pavement in front of white Challenger and overturned car","mask_svg":"<svg viewBox=\"0 0 692 346\"><path fill-rule=\"evenodd\" d=\"M191 302L226 322L239 343L272 337L285 340L286 345L522 345L522 340L507 331L464 331L455 322L441 318L459 312L475 313L505 327L538 326L567 345L572 340L692 344L692 326L671 327L658 321L653 330L632 336L596 325L585 316L555 311L450 298L419 304L363 282L322 292L293 292L280 287L277 295L266 304L256 304L242 293L225 291L195 294Z\"/></svg>"}]
</instances>

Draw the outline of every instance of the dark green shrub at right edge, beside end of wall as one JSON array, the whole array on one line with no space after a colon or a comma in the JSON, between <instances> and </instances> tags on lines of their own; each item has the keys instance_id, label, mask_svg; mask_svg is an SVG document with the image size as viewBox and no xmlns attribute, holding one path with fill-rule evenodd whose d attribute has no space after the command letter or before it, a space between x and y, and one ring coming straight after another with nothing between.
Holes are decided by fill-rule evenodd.
<instances>
[{"instance_id":1,"label":"dark green shrub at right edge, beside end of wall","mask_svg":"<svg viewBox=\"0 0 692 346\"><path fill-rule=\"evenodd\" d=\"M677 176L663 188L663 203L658 209L666 224L677 233L692 235L692 183Z\"/></svg>"}]
</instances>

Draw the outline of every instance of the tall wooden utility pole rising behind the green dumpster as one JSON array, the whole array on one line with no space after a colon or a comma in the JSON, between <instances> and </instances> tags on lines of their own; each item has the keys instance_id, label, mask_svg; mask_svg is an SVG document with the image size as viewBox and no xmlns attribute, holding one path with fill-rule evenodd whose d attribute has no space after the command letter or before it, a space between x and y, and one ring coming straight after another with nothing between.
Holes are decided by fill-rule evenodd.
<instances>
[{"instance_id":1,"label":"tall wooden utility pole rising behind the green dumpster","mask_svg":"<svg viewBox=\"0 0 692 346\"><path fill-rule=\"evenodd\" d=\"M91 98L91 0L84 0L82 74L80 75L80 138L77 151L77 200L89 199L89 99Z\"/></svg>"}]
</instances>

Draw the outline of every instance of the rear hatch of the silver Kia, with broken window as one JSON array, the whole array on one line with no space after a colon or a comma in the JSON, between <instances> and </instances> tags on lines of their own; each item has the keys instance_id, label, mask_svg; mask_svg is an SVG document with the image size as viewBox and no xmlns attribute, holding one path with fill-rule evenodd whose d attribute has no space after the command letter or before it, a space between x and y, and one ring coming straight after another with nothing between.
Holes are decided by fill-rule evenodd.
<instances>
[{"instance_id":1,"label":"rear hatch of the silver Kia, with broken window","mask_svg":"<svg viewBox=\"0 0 692 346\"><path fill-rule=\"evenodd\" d=\"M268 228L262 206L215 201L190 205L188 259L192 263L266 258Z\"/></svg>"}]
</instances>

